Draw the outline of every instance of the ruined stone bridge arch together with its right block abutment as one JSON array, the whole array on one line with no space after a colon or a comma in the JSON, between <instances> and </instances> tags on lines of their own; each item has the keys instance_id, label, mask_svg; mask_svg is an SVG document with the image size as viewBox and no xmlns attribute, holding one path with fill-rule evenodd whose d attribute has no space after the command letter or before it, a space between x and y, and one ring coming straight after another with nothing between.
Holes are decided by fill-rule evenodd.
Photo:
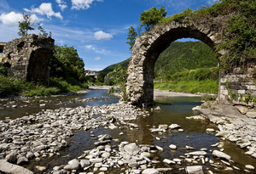
<instances>
[{"instance_id":1,"label":"ruined stone bridge arch together with its right block abutment","mask_svg":"<svg viewBox=\"0 0 256 174\"><path fill-rule=\"evenodd\" d=\"M148 106L153 104L154 97L154 64L171 42L179 38L195 38L205 42L213 51L222 42L224 35L224 20L227 17L208 20L172 21L162 25L137 38L132 48L131 60L127 70L126 93L132 104ZM224 56L224 51L218 53L218 59ZM220 63L220 62L219 62ZM221 66L221 65L220 65ZM251 93L256 97L256 62L247 62L245 68L237 65L232 70L220 70L218 100L227 100L229 92L245 95ZM226 86L227 82L228 87Z\"/></svg>"}]
</instances>

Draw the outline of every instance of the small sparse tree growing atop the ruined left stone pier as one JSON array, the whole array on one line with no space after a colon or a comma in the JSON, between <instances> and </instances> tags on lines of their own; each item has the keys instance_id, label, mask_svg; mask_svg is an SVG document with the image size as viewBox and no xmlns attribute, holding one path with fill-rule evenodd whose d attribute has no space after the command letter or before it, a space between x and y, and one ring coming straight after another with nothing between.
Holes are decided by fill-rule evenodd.
<instances>
[{"instance_id":1,"label":"small sparse tree growing atop the ruined left stone pier","mask_svg":"<svg viewBox=\"0 0 256 174\"><path fill-rule=\"evenodd\" d=\"M23 14L23 20L19 21L19 36L27 36L27 31L35 30L32 25L31 15Z\"/></svg>"}]
</instances>

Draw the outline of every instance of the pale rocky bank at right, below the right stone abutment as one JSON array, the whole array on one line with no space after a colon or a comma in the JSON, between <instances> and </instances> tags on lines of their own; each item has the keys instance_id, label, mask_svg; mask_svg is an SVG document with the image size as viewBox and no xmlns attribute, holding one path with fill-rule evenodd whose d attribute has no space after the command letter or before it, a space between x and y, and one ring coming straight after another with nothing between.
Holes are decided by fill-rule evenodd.
<instances>
[{"instance_id":1,"label":"pale rocky bank at right, below the right stone abutment","mask_svg":"<svg viewBox=\"0 0 256 174\"><path fill-rule=\"evenodd\" d=\"M201 112L201 115L189 119L207 119L218 126L215 136L221 140L236 143L245 154L256 158L256 109L243 105L218 104L218 102L206 102L193 108ZM217 144L218 146L218 144ZM224 150L224 149L222 149ZM247 166L254 170L254 166ZM246 168L247 168L246 167ZM247 170L246 170L247 171ZM249 171L247 171L249 172Z\"/></svg>"}]
</instances>

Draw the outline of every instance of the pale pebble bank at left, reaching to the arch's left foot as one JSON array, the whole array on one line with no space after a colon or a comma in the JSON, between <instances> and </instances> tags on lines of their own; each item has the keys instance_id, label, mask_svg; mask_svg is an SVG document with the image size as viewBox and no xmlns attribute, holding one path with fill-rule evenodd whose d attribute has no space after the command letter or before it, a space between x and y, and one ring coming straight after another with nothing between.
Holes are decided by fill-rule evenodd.
<instances>
[{"instance_id":1,"label":"pale pebble bank at left, reaching to the arch's left foot","mask_svg":"<svg viewBox=\"0 0 256 174\"><path fill-rule=\"evenodd\" d=\"M94 118L94 115L101 115ZM0 158L22 165L29 160L58 155L68 146L67 138L76 130L90 130L99 126L109 128L115 121L135 120L147 115L130 104L110 104L102 107L80 106L42 110L38 114L15 120L0 121ZM0 169L1 171L1 169Z\"/></svg>"}]
</instances>

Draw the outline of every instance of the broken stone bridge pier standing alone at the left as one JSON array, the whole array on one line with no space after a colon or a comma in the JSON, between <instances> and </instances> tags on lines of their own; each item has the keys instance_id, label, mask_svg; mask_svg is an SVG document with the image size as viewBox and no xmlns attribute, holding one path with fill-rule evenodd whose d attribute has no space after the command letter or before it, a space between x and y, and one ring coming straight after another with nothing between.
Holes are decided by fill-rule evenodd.
<instances>
[{"instance_id":1,"label":"broken stone bridge pier standing alone at the left","mask_svg":"<svg viewBox=\"0 0 256 174\"><path fill-rule=\"evenodd\" d=\"M9 68L8 76L48 84L48 62L54 53L54 43L50 37L34 34L8 42L3 48L2 61Z\"/></svg>"}]
</instances>

